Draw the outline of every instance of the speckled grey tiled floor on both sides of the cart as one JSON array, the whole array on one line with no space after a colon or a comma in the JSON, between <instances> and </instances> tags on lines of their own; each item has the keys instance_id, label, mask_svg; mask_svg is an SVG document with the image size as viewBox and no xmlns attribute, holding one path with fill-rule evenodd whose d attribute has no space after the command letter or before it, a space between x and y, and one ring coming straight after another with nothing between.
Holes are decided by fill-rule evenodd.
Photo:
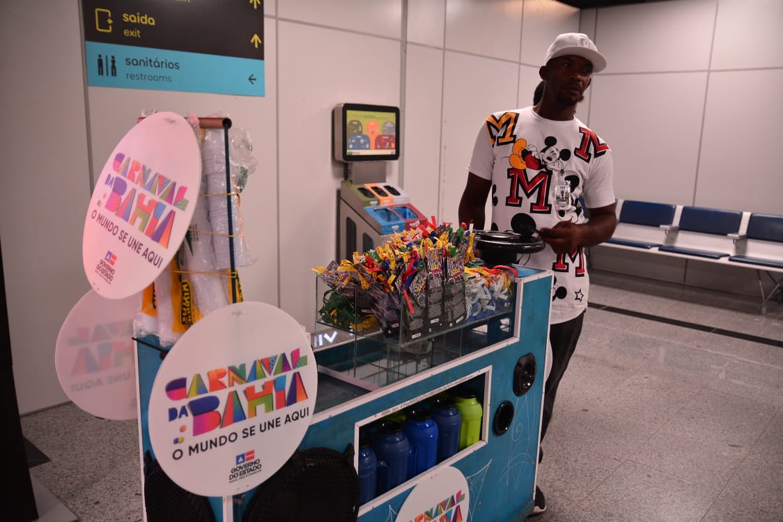
<instances>
[{"instance_id":1,"label":"speckled grey tiled floor on both sides of the cart","mask_svg":"<svg viewBox=\"0 0 783 522\"><path fill-rule=\"evenodd\" d=\"M781 522L783 303L760 315L758 298L592 277L536 522ZM49 458L31 477L60 501L39 520L142 520L135 421L69 404L22 428Z\"/></svg>"}]
</instances>

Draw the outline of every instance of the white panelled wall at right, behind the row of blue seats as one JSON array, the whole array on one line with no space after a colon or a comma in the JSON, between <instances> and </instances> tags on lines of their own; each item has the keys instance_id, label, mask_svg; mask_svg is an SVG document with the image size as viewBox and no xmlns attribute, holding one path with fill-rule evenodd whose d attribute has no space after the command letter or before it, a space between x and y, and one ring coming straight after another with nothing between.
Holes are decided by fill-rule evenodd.
<instances>
[{"instance_id":1,"label":"white panelled wall at right, behind the row of blue seats","mask_svg":"<svg viewBox=\"0 0 783 522\"><path fill-rule=\"evenodd\" d=\"M776 152L783 137L781 23L779 0L597 9L590 27L608 67L594 78L589 121L612 146L619 198L783 213L783 157ZM591 261L596 268L759 294L750 270L651 261L601 247Z\"/></svg>"}]
</instances>

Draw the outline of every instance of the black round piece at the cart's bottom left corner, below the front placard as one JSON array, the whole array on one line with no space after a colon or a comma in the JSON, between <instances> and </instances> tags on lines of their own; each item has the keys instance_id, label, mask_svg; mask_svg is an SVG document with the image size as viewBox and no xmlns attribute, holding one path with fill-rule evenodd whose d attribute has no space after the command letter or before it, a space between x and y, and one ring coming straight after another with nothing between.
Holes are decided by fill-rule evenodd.
<instances>
[{"instance_id":1,"label":"black round piece at the cart's bottom left corner, below the front placard","mask_svg":"<svg viewBox=\"0 0 783 522\"><path fill-rule=\"evenodd\" d=\"M175 484L150 452L144 453L144 508L147 522L215 522L209 499Z\"/></svg>"}]
</instances>

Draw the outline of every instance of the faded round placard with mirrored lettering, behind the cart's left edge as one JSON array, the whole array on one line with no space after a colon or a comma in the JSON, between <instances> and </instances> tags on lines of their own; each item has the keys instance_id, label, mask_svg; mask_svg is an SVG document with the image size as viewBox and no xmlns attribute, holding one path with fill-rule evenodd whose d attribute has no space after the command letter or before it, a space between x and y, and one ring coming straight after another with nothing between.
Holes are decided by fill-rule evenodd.
<instances>
[{"instance_id":1,"label":"faded round placard with mirrored lettering, behind the cart's left edge","mask_svg":"<svg viewBox=\"0 0 783 522\"><path fill-rule=\"evenodd\" d=\"M103 419L138 415L133 320L141 297L106 299L94 290L71 308L54 351L63 391L85 412Z\"/></svg>"}]
</instances>

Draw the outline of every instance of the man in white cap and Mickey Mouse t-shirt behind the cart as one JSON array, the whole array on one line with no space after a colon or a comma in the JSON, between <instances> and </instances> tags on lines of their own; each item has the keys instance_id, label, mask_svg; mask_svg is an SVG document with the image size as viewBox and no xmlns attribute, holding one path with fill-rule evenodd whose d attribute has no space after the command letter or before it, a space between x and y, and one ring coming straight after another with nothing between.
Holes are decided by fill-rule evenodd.
<instances>
[{"instance_id":1,"label":"man in white cap and Mickey Mouse t-shirt behind the cart","mask_svg":"<svg viewBox=\"0 0 783 522\"><path fill-rule=\"evenodd\" d=\"M484 229L491 190L491 229L525 233L535 227L546 243L525 262L554 272L542 440L557 386L582 331L589 286L584 249L610 238L617 224L612 151L574 116L576 104L593 74L606 67L606 59L585 34L566 33L555 38L544 63L539 69L544 81L540 101L493 113L482 125L459 210L460 222ZM542 455L539 452L539 462ZM536 486L531 514L544 509L543 493Z\"/></svg>"}]
</instances>

